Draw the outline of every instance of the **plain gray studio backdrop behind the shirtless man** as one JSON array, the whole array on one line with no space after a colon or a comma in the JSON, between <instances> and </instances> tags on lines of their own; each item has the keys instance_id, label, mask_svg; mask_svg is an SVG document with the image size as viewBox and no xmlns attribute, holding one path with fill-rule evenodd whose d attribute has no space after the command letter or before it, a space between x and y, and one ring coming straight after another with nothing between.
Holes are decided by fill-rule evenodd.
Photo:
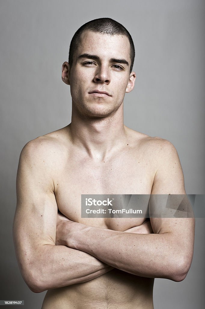
<instances>
[{"instance_id":1,"label":"plain gray studio backdrop behind the shirtless man","mask_svg":"<svg viewBox=\"0 0 205 309\"><path fill-rule=\"evenodd\" d=\"M70 122L70 90L61 81L74 32L111 17L131 33L137 74L125 97L125 124L170 140L188 194L204 194L204 12L199 0L0 2L1 296L41 307L45 293L24 283L14 255L15 176L22 147ZM182 282L156 279L155 308L204 308L204 219L197 219L191 269ZM7 306L10 307L10 306Z\"/></svg>"}]
</instances>

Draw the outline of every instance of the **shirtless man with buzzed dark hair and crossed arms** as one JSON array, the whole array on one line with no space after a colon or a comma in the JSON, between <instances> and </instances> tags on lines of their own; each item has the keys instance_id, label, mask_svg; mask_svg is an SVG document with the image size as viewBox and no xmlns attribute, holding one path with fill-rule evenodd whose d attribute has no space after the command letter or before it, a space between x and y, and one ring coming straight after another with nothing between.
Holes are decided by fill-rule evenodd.
<instances>
[{"instance_id":1,"label":"shirtless man with buzzed dark hair and crossed arms","mask_svg":"<svg viewBox=\"0 0 205 309\"><path fill-rule=\"evenodd\" d=\"M127 30L97 19L74 37L62 66L72 121L20 156L19 267L32 291L48 290L43 309L151 309L155 277L187 275L194 219L81 218L81 194L185 194L182 168L170 142L123 124L135 84Z\"/></svg>"}]
</instances>

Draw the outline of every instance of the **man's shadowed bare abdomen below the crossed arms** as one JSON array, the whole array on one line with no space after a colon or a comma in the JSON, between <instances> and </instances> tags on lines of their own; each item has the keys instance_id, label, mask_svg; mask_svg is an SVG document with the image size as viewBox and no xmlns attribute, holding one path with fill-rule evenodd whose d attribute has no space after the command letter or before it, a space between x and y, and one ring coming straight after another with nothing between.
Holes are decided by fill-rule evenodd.
<instances>
[{"instance_id":1,"label":"man's shadowed bare abdomen below the crossed arms","mask_svg":"<svg viewBox=\"0 0 205 309\"><path fill-rule=\"evenodd\" d=\"M42 309L151 309L154 279L113 269L93 280L49 290Z\"/></svg>"}]
</instances>

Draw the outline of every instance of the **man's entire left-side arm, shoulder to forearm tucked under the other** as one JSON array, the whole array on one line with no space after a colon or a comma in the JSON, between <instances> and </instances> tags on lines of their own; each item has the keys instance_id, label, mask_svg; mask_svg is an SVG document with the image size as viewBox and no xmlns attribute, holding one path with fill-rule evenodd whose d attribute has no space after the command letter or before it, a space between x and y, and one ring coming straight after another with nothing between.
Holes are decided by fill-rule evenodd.
<instances>
[{"instance_id":1,"label":"man's entire left-side arm, shoulder to forearm tucked under the other","mask_svg":"<svg viewBox=\"0 0 205 309\"><path fill-rule=\"evenodd\" d=\"M112 269L89 253L55 245L52 151L50 142L38 138L24 147L18 167L14 244L22 276L34 292L88 281Z\"/></svg>"}]
</instances>

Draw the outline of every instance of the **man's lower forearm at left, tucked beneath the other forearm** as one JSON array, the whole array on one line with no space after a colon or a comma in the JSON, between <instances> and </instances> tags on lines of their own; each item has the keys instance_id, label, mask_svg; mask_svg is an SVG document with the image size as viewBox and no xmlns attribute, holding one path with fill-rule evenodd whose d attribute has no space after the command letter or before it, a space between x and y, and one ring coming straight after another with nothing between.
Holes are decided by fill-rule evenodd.
<instances>
[{"instance_id":1,"label":"man's lower forearm at left, tucked beneath the other forearm","mask_svg":"<svg viewBox=\"0 0 205 309\"><path fill-rule=\"evenodd\" d=\"M112 269L94 256L66 246L42 245L19 253L24 280L33 292L92 280Z\"/></svg>"}]
</instances>

